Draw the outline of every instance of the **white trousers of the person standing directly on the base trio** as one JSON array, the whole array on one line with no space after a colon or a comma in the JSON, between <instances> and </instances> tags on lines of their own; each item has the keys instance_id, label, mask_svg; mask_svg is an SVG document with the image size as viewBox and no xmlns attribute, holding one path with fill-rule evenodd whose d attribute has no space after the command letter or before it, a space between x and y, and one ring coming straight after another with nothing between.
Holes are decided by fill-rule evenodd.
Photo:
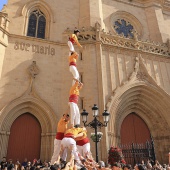
<instances>
[{"instance_id":1,"label":"white trousers of the person standing directly on the base trio","mask_svg":"<svg viewBox=\"0 0 170 170\"><path fill-rule=\"evenodd\" d=\"M76 103L69 102L70 105L70 122L72 125L80 124L80 111Z\"/></svg>"}]
</instances>

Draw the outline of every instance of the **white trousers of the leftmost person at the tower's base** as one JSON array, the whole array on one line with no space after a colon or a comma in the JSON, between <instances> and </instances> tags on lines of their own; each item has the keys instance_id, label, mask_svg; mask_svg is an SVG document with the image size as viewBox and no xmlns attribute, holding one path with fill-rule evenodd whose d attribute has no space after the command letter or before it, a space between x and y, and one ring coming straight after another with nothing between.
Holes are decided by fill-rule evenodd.
<instances>
[{"instance_id":1,"label":"white trousers of the leftmost person at the tower's base","mask_svg":"<svg viewBox=\"0 0 170 170\"><path fill-rule=\"evenodd\" d=\"M60 153L60 148L61 148L61 140L58 139L54 139L54 152L53 152L53 156L51 158L51 165L54 164L55 161L57 161L59 153ZM67 151L64 150L63 152L63 158L67 157ZM64 159L63 159L64 160ZM66 161L66 160L64 160Z\"/></svg>"}]
</instances>

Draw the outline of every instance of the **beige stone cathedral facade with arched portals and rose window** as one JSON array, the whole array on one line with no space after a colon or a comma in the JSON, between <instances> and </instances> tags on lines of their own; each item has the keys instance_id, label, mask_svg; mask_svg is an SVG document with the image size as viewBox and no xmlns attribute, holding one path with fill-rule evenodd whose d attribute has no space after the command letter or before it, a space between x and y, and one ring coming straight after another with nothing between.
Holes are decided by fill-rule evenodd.
<instances>
[{"instance_id":1,"label":"beige stone cathedral facade with arched portals and rose window","mask_svg":"<svg viewBox=\"0 0 170 170\"><path fill-rule=\"evenodd\" d=\"M83 46L76 47L84 83L80 111L89 112L89 121L94 103L100 114L110 113L108 127L101 129L100 159L122 143L122 124L135 113L149 129L157 159L167 162L169 0L8 0L0 12L0 157L15 155L23 143L34 148L37 141L38 156L51 158L57 121L68 108L67 40L75 27ZM28 132L25 126L34 128ZM140 129L138 134L145 137ZM91 147L95 155L92 141Z\"/></svg>"}]
</instances>

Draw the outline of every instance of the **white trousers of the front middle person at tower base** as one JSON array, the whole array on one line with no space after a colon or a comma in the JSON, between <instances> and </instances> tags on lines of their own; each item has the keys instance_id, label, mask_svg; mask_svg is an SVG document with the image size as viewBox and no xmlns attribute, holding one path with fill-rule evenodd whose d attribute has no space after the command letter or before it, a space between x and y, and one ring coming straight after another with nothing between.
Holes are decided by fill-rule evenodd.
<instances>
[{"instance_id":1,"label":"white trousers of the front middle person at tower base","mask_svg":"<svg viewBox=\"0 0 170 170\"><path fill-rule=\"evenodd\" d=\"M68 149L72 149L72 153L74 155L74 159L79 161L79 156L78 156L78 149L76 147L76 141L73 138L63 138L61 141L61 145L63 146L64 150L67 151ZM63 159L66 160L67 155L63 155Z\"/></svg>"}]
</instances>

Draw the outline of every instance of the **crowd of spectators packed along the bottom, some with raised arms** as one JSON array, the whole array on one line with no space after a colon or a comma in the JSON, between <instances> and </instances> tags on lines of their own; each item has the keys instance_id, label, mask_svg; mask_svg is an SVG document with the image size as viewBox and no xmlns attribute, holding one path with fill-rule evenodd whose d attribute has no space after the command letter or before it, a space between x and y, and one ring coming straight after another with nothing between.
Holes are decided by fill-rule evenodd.
<instances>
[{"instance_id":1,"label":"crowd of spectators packed along the bottom, some with raised arms","mask_svg":"<svg viewBox=\"0 0 170 170\"><path fill-rule=\"evenodd\" d=\"M136 164L132 167L130 164L115 163L112 167L109 164L105 164L103 161L95 162L92 155L87 155L86 158L80 156L81 163L77 163L74 160L74 155L68 162L58 159L54 165L50 165L50 162L34 159L32 162L27 161L25 158L24 162L20 163L19 160L13 162L12 159L6 161L3 157L0 163L0 170L170 170L169 164L161 165L157 160L152 162L142 161L140 164Z\"/></svg>"}]
</instances>

